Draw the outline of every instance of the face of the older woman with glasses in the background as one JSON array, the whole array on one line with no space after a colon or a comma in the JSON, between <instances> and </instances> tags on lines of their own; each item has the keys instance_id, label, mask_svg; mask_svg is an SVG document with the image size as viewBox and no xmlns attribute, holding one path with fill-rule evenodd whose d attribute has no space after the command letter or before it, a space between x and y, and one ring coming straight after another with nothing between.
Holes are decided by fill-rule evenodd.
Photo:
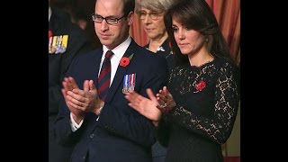
<instances>
[{"instance_id":1,"label":"face of the older woman with glasses in the background","mask_svg":"<svg viewBox=\"0 0 288 162\"><path fill-rule=\"evenodd\" d=\"M150 40L160 39L166 35L164 13L157 13L141 7L139 18Z\"/></svg>"}]
</instances>

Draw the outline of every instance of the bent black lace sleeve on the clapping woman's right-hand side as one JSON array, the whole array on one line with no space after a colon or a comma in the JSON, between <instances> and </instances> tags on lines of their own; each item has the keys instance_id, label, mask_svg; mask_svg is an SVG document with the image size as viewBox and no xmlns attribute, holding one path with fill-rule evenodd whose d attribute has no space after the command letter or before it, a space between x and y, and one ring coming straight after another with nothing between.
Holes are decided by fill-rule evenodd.
<instances>
[{"instance_id":1,"label":"bent black lace sleeve on the clapping woman's right-hand side","mask_svg":"<svg viewBox=\"0 0 288 162\"><path fill-rule=\"evenodd\" d=\"M215 87L215 107L212 118L196 116L177 103L175 109L169 113L170 119L187 130L201 134L217 143L225 143L232 131L238 111L238 77L235 76L235 68L229 63L220 67Z\"/></svg>"}]
</instances>

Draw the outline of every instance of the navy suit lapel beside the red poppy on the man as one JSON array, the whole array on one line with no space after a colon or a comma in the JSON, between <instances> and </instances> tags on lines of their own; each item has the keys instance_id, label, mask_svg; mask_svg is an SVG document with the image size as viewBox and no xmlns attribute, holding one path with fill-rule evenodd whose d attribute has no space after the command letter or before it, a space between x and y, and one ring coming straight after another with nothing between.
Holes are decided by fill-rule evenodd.
<instances>
[{"instance_id":1,"label":"navy suit lapel beside the red poppy on the man","mask_svg":"<svg viewBox=\"0 0 288 162\"><path fill-rule=\"evenodd\" d=\"M134 53L134 57L135 57L136 48L137 48L137 45L136 45L135 41L131 40L130 46L126 50L126 52L123 55L123 57L129 58L130 55L133 54L133 53ZM134 57L130 61L133 61ZM128 65L127 67L121 67L119 65L119 67L117 68L116 74L114 76L112 85L110 86L110 88L108 90L108 94L107 94L107 97L105 99L105 102L110 102L112 100L112 97L117 92L117 89L120 88L119 86L121 85L123 77L126 74L126 71L129 68L129 66L130 65Z\"/></svg>"}]
</instances>

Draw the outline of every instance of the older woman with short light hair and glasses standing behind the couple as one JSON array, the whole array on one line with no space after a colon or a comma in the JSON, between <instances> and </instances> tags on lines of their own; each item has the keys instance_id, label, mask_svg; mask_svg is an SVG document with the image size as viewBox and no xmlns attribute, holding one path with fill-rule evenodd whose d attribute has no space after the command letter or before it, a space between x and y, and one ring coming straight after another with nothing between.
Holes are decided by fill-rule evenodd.
<instances>
[{"instance_id":1,"label":"older woman with short light hair and glasses standing behind the couple","mask_svg":"<svg viewBox=\"0 0 288 162\"><path fill-rule=\"evenodd\" d=\"M164 14L175 0L138 0L139 19L148 35L148 44L144 47L166 58L168 67L174 67L171 45L164 24Z\"/></svg>"}]
</instances>

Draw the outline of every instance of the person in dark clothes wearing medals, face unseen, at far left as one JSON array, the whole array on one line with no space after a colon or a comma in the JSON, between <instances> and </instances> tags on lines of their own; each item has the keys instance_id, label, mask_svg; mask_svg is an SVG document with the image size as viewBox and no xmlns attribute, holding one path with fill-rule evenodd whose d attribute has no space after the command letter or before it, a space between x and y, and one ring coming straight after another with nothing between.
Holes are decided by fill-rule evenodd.
<instances>
[{"instance_id":1,"label":"person in dark clothes wearing medals, face unseen, at far left","mask_svg":"<svg viewBox=\"0 0 288 162\"><path fill-rule=\"evenodd\" d=\"M91 46L92 47L92 46ZM70 22L69 16L49 7L49 162L67 162L72 146L59 146L54 121L58 114L62 80L76 55L90 48L85 32Z\"/></svg>"}]
</instances>

